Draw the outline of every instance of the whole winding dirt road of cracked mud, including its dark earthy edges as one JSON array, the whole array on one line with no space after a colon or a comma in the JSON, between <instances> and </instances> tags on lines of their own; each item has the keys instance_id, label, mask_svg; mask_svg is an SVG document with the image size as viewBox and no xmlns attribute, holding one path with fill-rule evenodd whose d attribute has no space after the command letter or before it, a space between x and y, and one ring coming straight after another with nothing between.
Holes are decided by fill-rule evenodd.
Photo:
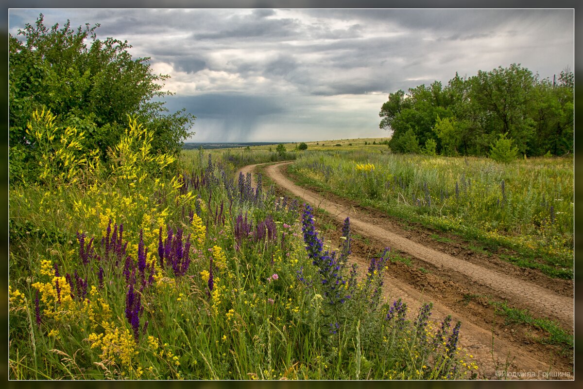
<instances>
[{"instance_id":1,"label":"whole winding dirt road of cracked mud, including its dark earthy edges","mask_svg":"<svg viewBox=\"0 0 583 389\"><path fill-rule=\"evenodd\" d=\"M339 241L343 220L350 218L354 239L352 260L360 268L385 247L398 253L384 280L384 296L402 298L415 314L426 302L433 303L434 320L447 315L462 321L460 344L480 366L480 379L500 379L500 372L520 377L573 379L573 355L536 341L543 334L532 327L505 325L489 302L507 302L528 309L533 317L550 318L563 328L574 328L573 282L552 279L538 271L521 269L488 253L476 253L452 239L436 241L436 232L423 226L403 225L375 209L366 208L333 194L300 187L288 178L287 165L256 164L243 167L244 174L261 169L280 193L289 193L318 211L325 239ZM259 165L265 165L260 166ZM253 179L255 185L255 179ZM532 373L534 372L534 374ZM549 374L551 372L552 374ZM564 373L569 373L564 377ZM553 374L554 373L554 374ZM514 378L514 377L513 377Z\"/></svg>"}]
</instances>

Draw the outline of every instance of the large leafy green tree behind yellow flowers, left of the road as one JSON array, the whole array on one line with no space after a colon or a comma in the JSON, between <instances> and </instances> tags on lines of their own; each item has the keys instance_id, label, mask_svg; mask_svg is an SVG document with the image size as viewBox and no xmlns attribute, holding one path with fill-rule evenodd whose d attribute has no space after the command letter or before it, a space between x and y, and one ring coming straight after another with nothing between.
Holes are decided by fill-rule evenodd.
<instances>
[{"instance_id":1,"label":"large leafy green tree behind yellow flowers, left of the road","mask_svg":"<svg viewBox=\"0 0 583 389\"><path fill-rule=\"evenodd\" d=\"M15 171L27 163L33 139L26 134L35 110L48 108L57 127L75 127L85 133L83 146L107 150L120 141L128 115L139 117L152 132L152 152L176 155L192 134L195 120L185 110L168 113L161 99L167 75L152 73L149 58L132 59L127 41L99 40L96 29L67 21L61 29L48 28L43 15L26 24L18 37L9 35L9 141ZM154 99L156 101L154 101ZM22 170L22 169L21 169ZM12 175L12 174L11 174Z\"/></svg>"}]
</instances>

